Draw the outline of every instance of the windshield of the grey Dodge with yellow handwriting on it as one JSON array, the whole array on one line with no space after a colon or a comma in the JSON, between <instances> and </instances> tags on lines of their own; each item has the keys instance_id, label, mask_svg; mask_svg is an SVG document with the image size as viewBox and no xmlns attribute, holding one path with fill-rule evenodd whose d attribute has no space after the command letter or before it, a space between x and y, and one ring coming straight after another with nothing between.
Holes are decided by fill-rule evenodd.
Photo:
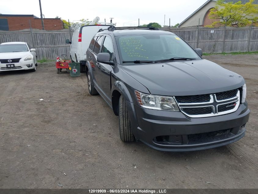
<instances>
[{"instance_id":1,"label":"windshield of the grey Dodge with yellow handwriting on it","mask_svg":"<svg viewBox=\"0 0 258 194\"><path fill-rule=\"evenodd\" d=\"M179 36L146 34L116 37L121 64L132 61L159 61L172 58L201 59ZM143 62L144 63L144 62ZM133 64L133 63L132 63Z\"/></svg>"}]
</instances>

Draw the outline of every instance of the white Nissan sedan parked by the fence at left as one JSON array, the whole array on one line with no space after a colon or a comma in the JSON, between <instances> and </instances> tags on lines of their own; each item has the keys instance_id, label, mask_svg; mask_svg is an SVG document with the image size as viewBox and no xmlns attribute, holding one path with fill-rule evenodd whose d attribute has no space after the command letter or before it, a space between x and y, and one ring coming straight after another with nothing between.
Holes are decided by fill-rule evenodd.
<instances>
[{"instance_id":1,"label":"white Nissan sedan parked by the fence at left","mask_svg":"<svg viewBox=\"0 0 258 194\"><path fill-rule=\"evenodd\" d=\"M36 49L26 42L6 42L0 44L0 71L36 71Z\"/></svg>"}]
</instances>

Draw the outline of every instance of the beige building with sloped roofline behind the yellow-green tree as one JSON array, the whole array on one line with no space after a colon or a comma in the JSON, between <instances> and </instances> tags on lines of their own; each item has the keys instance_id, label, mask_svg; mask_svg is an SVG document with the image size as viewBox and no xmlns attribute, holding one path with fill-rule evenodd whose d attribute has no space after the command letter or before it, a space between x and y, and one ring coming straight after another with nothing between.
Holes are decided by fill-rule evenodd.
<instances>
[{"instance_id":1,"label":"beige building with sloped roofline behind the yellow-green tree","mask_svg":"<svg viewBox=\"0 0 258 194\"><path fill-rule=\"evenodd\" d=\"M239 0L224 0L224 2L233 2L233 3L236 3L238 1ZM249 2L249 0L241 0L241 1L242 3ZM209 18L210 10L216 6L216 3L217 3L217 0L208 0L207 2L205 2L205 4L199 7L198 10L196 10L184 21L182 21L178 25L178 28L187 28L187 27L198 26L198 25L206 26L206 25L211 25L214 21L219 21L219 20L214 20ZM253 3L258 4L258 0L254 0ZM257 14L255 16L258 17Z\"/></svg>"}]
</instances>

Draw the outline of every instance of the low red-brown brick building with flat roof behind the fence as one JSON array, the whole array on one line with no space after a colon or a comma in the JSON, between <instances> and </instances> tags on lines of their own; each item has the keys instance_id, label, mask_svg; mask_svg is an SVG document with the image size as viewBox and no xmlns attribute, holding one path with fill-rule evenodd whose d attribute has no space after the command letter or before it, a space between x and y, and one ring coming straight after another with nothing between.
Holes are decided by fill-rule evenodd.
<instances>
[{"instance_id":1,"label":"low red-brown brick building with flat roof behind the fence","mask_svg":"<svg viewBox=\"0 0 258 194\"><path fill-rule=\"evenodd\" d=\"M31 28L41 29L41 18L35 15L11 15L0 14L0 30L23 30L29 29L29 20ZM60 18L43 18L45 30L61 30L64 29L64 23Z\"/></svg>"}]
</instances>

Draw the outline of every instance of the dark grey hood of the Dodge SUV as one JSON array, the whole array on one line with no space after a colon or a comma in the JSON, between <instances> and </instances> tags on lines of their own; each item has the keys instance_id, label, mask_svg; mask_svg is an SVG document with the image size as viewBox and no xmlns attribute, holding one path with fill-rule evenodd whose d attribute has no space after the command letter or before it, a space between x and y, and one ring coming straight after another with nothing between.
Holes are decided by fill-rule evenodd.
<instances>
[{"instance_id":1,"label":"dark grey hood of the Dodge SUV","mask_svg":"<svg viewBox=\"0 0 258 194\"><path fill-rule=\"evenodd\" d=\"M242 76L205 59L127 65L122 69L155 95L217 93L245 84Z\"/></svg>"}]
</instances>

